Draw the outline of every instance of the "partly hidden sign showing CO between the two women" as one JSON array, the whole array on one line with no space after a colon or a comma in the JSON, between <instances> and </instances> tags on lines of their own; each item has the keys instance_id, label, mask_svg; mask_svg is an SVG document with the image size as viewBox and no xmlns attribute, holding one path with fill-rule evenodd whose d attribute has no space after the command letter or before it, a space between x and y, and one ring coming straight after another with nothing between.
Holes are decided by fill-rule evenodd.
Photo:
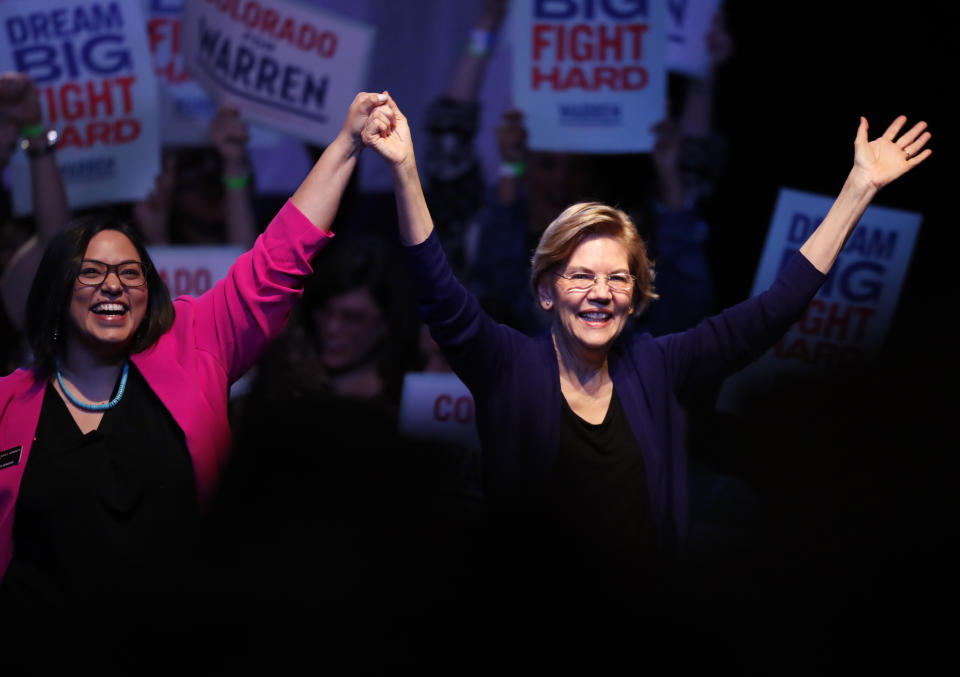
<instances>
[{"instance_id":1,"label":"partly hidden sign showing CO between the two women","mask_svg":"<svg viewBox=\"0 0 960 677\"><path fill-rule=\"evenodd\" d=\"M400 432L479 450L473 396L452 373L410 372L400 395Z\"/></svg>"}]
</instances>

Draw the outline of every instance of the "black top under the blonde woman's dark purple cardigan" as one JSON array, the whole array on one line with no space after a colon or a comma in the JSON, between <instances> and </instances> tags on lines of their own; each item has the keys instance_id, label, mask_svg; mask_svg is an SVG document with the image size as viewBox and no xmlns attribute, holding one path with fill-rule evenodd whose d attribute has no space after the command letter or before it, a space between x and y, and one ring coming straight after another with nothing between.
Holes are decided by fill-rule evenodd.
<instances>
[{"instance_id":1,"label":"black top under the blonde woman's dark purple cardigan","mask_svg":"<svg viewBox=\"0 0 960 677\"><path fill-rule=\"evenodd\" d=\"M593 595L648 583L642 579L656 552L656 532L647 478L616 391L599 424L584 421L563 400L548 505L551 568L567 585L580 581Z\"/></svg>"}]
</instances>

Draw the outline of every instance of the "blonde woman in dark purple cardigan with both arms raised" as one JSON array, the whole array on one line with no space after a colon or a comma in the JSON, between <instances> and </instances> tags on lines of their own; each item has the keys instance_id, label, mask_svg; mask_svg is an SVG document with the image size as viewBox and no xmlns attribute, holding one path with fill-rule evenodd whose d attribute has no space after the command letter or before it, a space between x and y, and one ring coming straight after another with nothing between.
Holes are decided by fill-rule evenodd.
<instances>
[{"instance_id":1,"label":"blonde woman in dark purple cardigan with both arms raised","mask_svg":"<svg viewBox=\"0 0 960 677\"><path fill-rule=\"evenodd\" d=\"M682 545L687 522L680 402L759 356L800 317L876 192L929 157L926 124L901 133L905 123L897 118L870 141L861 118L843 189L770 289L688 331L621 342L656 297L644 243L623 212L574 204L544 231L531 278L552 322L530 338L489 319L452 275L406 118L392 99L372 113L363 141L391 167L422 315L476 401L491 519L516 537L506 541L504 580L517 587L503 615L521 619L526 641L560 640L554 646L571 652L564 664L594 666L624 658L638 638L656 637L643 659L661 639L669 646L669 630L638 630L660 627L658 614L676 606L657 603L667 593L653 576ZM531 596L533 618L517 606ZM576 654L577 643L588 655Z\"/></svg>"}]
</instances>

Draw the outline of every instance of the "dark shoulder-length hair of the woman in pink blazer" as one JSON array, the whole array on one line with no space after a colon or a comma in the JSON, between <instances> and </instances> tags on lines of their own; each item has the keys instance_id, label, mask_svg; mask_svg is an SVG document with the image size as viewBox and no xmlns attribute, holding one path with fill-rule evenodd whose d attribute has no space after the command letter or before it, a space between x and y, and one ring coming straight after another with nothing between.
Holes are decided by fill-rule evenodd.
<instances>
[{"instance_id":1,"label":"dark shoulder-length hair of the woman in pink blazer","mask_svg":"<svg viewBox=\"0 0 960 677\"><path fill-rule=\"evenodd\" d=\"M137 230L108 213L80 216L47 245L27 298L27 341L33 351L34 368L41 374L53 373L57 357L66 351L70 297L80 272L80 262L90 240L104 230L115 230L126 236L146 264L147 311L133 335L130 352L146 350L173 326L170 292L150 260Z\"/></svg>"}]
</instances>

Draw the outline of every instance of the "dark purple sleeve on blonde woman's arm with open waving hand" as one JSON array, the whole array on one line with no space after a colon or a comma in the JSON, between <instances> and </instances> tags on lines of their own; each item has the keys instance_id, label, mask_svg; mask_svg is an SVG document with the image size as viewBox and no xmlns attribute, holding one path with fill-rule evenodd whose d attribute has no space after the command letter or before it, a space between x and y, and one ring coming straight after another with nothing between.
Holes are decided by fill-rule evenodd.
<instances>
[{"instance_id":1,"label":"dark purple sleeve on blonde woman's arm with open waving hand","mask_svg":"<svg viewBox=\"0 0 960 677\"><path fill-rule=\"evenodd\" d=\"M758 358L800 319L825 278L796 252L766 291L693 329L655 339L674 392L715 384Z\"/></svg>"}]
</instances>

